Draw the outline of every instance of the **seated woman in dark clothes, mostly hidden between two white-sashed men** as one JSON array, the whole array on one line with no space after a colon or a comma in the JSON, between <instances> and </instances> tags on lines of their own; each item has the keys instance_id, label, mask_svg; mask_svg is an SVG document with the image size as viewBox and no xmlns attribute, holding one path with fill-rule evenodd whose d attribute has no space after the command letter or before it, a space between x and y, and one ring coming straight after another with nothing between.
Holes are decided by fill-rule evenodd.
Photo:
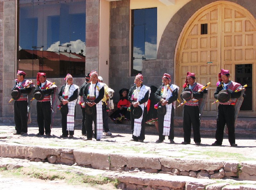
<instances>
[{"instance_id":1,"label":"seated woman in dark clothes, mostly hidden between two white-sashed men","mask_svg":"<svg viewBox=\"0 0 256 190\"><path fill-rule=\"evenodd\" d=\"M146 118L146 123L149 125L154 125L156 126L156 131L158 132L158 121L157 121L157 109L155 109L154 105L158 103L158 101L155 98L155 93L157 90L157 87L151 86L150 87L150 95L148 99L148 105L147 105L147 118Z\"/></svg>"}]
</instances>

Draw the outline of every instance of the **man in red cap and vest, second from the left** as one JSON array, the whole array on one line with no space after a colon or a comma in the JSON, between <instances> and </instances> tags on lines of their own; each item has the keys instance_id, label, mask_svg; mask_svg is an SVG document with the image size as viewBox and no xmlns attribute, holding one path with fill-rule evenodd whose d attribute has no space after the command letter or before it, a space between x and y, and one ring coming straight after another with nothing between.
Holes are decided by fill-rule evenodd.
<instances>
[{"instance_id":1,"label":"man in red cap and vest, second from the left","mask_svg":"<svg viewBox=\"0 0 256 190\"><path fill-rule=\"evenodd\" d=\"M54 110L56 110L57 86L46 80L46 74L44 72L38 72L36 75L37 86L34 91L34 98L37 100L36 112L37 112L37 124L39 133L37 136L45 135L51 136L52 116ZM52 95L52 98L51 98ZM51 102L52 101L52 102Z\"/></svg>"}]
</instances>

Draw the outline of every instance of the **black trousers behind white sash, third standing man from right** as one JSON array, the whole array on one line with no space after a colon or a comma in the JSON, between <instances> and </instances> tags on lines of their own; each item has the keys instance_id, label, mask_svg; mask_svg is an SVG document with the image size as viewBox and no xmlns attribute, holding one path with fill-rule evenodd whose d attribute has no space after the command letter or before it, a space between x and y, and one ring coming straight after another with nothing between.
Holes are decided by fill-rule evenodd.
<instances>
[{"instance_id":1,"label":"black trousers behind white sash, third standing man from right","mask_svg":"<svg viewBox=\"0 0 256 190\"><path fill-rule=\"evenodd\" d=\"M171 124L170 124L170 134L168 136L169 140L174 139L174 107L172 105L172 113L171 113ZM163 135L164 132L164 115L158 115L158 130L159 130L159 140L163 141L165 136Z\"/></svg>"}]
</instances>

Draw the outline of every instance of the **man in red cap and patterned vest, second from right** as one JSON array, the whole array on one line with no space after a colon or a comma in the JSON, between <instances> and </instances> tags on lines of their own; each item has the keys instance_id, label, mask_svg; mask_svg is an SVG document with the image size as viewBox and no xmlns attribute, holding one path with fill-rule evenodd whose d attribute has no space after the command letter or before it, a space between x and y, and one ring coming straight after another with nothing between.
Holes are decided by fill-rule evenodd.
<instances>
[{"instance_id":1,"label":"man in red cap and patterned vest, second from right","mask_svg":"<svg viewBox=\"0 0 256 190\"><path fill-rule=\"evenodd\" d=\"M199 105L202 101L204 93L207 91L197 92L203 85L195 82L196 77L194 73L187 72L187 77L183 85L181 98L188 95L186 103L183 109L183 131L184 131L184 141L181 144L190 144L191 137L191 124L193 126L194 142L196 145L201 145L201 135L200 135L200 112ZM184 99L184 97L183 97Z\"/></svg>"}]
</instances>

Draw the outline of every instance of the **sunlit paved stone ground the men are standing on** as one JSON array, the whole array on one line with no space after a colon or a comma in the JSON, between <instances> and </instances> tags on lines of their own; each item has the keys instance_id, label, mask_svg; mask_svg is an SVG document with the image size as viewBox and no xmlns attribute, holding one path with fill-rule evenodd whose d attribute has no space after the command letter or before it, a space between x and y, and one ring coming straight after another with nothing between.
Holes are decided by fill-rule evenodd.
<instances>
[{"instance_id":1,"label":"sunlit paved stone ground the men are standing on","mask_svg":"<svg viewBox=\"0 0 256 190\"><path fill-rule=\"evenodd\" d=\"M86 136L82 136L81 130L75 129L74 138L60 138L61 127L52 128L52 136L36 136L37 126L28 127L28 135L13 135L14 125L0 124L0 143L23 144L32 146L46 147L65 147L65 148L92 148L105 149L109 152L120 153L139 153L165 155L182 158L199 158L213 160L256 160L256 140L255 139L236 139L237 147L230 147L228 139L223 140L222 146L213 147L213 138L202 138L201 146L196 146L191 139L189 145L182 145L182 137L174 137L175 144L170 144L168 140L163 143L155 143L158 135L146 134L144 142L130 141L132 135L118 129L110 128L112 135L104 135L101 141L83 141ZM152 127L152 130L155 130ZM167 138L166 138L167 139Z\"/></svg>"}]
</instances>

